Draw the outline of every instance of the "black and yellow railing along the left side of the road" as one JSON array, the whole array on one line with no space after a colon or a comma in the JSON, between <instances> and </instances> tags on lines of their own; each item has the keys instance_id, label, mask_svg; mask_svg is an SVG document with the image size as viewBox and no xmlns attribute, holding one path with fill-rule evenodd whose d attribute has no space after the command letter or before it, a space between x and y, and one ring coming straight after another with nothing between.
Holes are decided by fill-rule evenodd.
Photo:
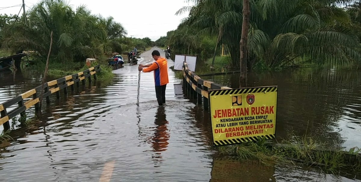
<instances>
[{"instance_id":1,"label":"black and yellow railing along the left side of the road","mask_svg":"<svg viewBox=\"0 0 361 182\"><path fill-rule=\"evenodd\" d=\"M26 118L25 110L29 109L30 107L35 107L35 112L39 111L39 102L40 102L40 95L42 93L42 88L44 88L44 92L42 97L46 98L46 103L50 104L49 95L55 93L56 98L60 99L60 90L64 90L64 94L68 95L68 87L71 87L71 91L74 91L74 84L76 84L77 88L79 88L79 82L82 81L83 85L85 85L85 79L88 78L89 83L91 83L91 75L94 76L96 80L96 73L100 71L100 65L91 67L87 70L81 71L79 73L69 75L66 77L62 77L53 81L49 81L44 83L44 86L40 85L36 88L33 88L23 94L14 97L4 103L0 104L0 125L4 126L4 130L10 129L9 120L18 114L22 118ZM28 97L31 99L25 101ZM12 107L12 105L17 104L17 107L11 111L7 109Z\"/></svg>"}]
</instances>

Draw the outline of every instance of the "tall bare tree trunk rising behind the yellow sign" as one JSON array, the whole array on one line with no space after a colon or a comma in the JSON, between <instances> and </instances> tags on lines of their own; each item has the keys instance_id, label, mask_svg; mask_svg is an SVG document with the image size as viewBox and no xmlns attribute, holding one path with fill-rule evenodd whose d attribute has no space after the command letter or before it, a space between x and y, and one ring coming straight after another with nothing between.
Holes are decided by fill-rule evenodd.
<instances>
[{"instance_id":1,"label":"tall bare tree trunk rising behind the yellow sign","mask_svg":"<svg viewBox=\"0 0 361 182\"><path fill-rule=\"evenodd\" d=\"M248 39L248 25L249 25L249 0L243 0L243 22L242 22L242 35L241 40L239 42L240 49L240 71L241 74L239 76L239 86L244 87L244 84L247 84L247 57L248 57L248 47L247 47L247 39Z\"/></svg>"}]
</instances>

